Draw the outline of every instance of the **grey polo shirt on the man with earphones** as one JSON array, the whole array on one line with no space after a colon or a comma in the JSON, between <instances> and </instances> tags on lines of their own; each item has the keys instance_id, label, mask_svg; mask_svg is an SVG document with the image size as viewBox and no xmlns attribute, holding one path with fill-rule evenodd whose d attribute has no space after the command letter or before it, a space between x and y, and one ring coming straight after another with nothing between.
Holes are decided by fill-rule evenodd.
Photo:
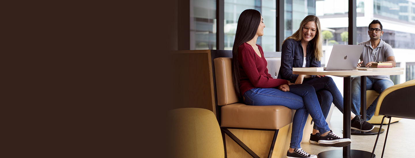
<instances>
[{"instance_id":1,"label":"grey polo shirt on the man with earphones","mask_svg":"<svg viewBox=\"0 0 415 158\"><path fill-rule=\"evenodd\" d=\"M362 66L366 65L366 63L369 63L371 61L378 62L378 61L387 61L386 58L389 56L395 56L393 54L393 50L391 45L387 44L385 41L381 39L381 42L379 42L379 45L373 49L371 46L371 42L361 42L358 45L363 45L363 52L360 55L360 60L363 61ZM367 76L374 79L383 79L383 80L391 80L389 75L377 75L377 76Z\"/></svg>"}]
</instances>

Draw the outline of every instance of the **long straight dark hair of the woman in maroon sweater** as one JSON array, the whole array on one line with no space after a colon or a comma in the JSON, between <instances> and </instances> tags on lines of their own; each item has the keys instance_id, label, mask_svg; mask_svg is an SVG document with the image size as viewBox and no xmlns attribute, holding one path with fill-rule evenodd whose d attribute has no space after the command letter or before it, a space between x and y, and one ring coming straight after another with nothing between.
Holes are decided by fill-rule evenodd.
<instances>
[{"instance_id":1,"label":"long straight dark hair of the woman in maroon sweater","mask_svg":"<svg viewBox=\"0 0 415 158\"><path fill-rule=\"evenodd\" d=\"M241 92L239 91L239 62L238 62L238 47L241 44L254 38L256 31L259 27L259 22L261 22L261 13L258 10L247 9L244 10L241 15L239 15L238 25L236 28L235 41L232 48L232 73L233 73L233 83L234 88L239 98L241 97Z\"/></svg>"}]
</instances>

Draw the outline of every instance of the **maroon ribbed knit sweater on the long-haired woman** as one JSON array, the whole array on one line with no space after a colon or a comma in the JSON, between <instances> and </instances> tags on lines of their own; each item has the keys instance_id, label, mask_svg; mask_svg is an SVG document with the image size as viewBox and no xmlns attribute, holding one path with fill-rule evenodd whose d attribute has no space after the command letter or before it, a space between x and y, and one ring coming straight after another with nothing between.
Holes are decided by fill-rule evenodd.
<instances>
[{"instance_id":1,"label":"maroon ribbed knit sweater on the long-haired woman","mask_svg":"<svg viewBox=\"0 0 415 158\"><path fill-rule=\"evenodd\" d=\"M274 79L268 73L264 51L258 46L261 57L259 57L251 45L244 43L238 48L239 61L239 91L241 95L252 88L275 88L279 85L288 85L287 80Z\"/></svg>"}]
</instances>

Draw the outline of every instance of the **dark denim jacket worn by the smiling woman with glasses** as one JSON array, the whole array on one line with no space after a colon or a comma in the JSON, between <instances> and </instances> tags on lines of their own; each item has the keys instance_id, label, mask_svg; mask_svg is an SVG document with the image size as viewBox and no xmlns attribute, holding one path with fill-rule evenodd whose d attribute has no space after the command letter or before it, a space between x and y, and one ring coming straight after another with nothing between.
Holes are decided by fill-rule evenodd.
<instances>
[{"instance_id":1,"label":"dark denim jacket worn by the smiling woman with glasses","mask_svg":"<svg viewBox=\"0 0 415 158\"><path fill-rule=\"evenodd\" d=\"M308 42L307 50L305 52L305 67L321 67L321 62L315 60L313 53L312 42ZM303 67L304 55L301 41L295 41L294 39L287 39L282 46L281 51L281 67L278 72L280 79L289 80L294 83L297 80L298 75L293 74L293 68ZM312 78L315 75L311 76Z\"/></svg>"}]
</instances>

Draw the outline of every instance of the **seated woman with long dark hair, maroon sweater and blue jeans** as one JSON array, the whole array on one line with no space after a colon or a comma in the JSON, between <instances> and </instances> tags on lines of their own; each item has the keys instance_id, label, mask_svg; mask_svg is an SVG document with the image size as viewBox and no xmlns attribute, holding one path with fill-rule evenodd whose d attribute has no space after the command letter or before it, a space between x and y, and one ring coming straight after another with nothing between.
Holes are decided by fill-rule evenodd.
<instances>
[{"instance_id":1,"label":"seated woman with long dark hair, maroon sweater and blue jeans","mask_svg":"<svg viewBox=\"0 0 415 158\"><path fill-rule=\"evenodd\" d=\"M264 27L264 19L257 10L244 10L239 16L232 69L234 87L242 100L247 105L283 105L296 109L288 158L317 158L300 147L309 113L322 133L318 141L321 146L349 145L350 139L342 139L330 130L311 85L294 85L288 80L274 79L268 73L264 52L256 44L258 37L264 35Z\"/></svg>"}]
</instances>

